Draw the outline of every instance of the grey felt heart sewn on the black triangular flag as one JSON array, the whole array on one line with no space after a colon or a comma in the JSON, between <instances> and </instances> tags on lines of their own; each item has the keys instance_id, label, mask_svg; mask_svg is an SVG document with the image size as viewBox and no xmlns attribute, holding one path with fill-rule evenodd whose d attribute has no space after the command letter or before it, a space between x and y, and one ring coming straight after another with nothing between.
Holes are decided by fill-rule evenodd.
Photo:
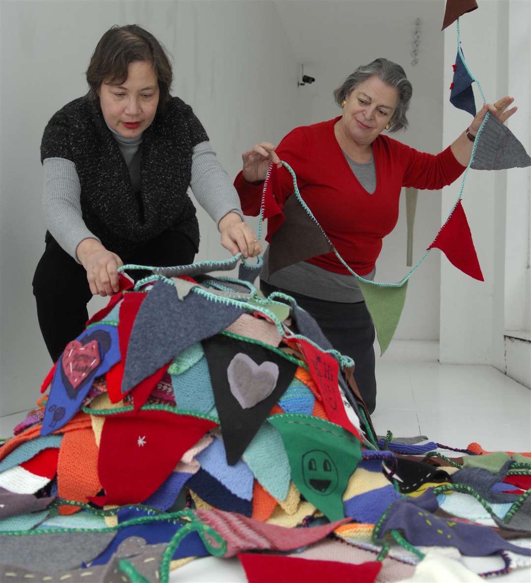
<instances>
[{"instance_id":1,"label":"grey felt heart sewn on the black triangular flag","mask_svg":"<svg viewBox=\"0 0 531 583\"><path fill-rule=\"evenodd\" d=\"M247 354L238 352L227 368L231 393L242 409L250 409L267 398L276 387L279 367L268 360L260 366Z\"/></svg>"}]
</instances>

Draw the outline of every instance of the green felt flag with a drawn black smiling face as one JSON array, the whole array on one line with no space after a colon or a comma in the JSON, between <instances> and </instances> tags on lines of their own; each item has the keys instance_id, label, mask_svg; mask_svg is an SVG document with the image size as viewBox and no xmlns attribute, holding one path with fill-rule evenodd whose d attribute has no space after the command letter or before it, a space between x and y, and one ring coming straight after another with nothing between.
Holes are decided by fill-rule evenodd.
<instances>
[{"instance_id":1,"label":"green felt flag with a drawn black smiling face","mask_svg":"<svg viewBox=\"0 0 531 583\"><path fill-rule=\"evenodd\" d=\"M331 521L343 518L342 496L361 460L360 442L315 417L276 415L269 422L282 436L291 477L303 496Z\"/></svg>"}]
</instances>

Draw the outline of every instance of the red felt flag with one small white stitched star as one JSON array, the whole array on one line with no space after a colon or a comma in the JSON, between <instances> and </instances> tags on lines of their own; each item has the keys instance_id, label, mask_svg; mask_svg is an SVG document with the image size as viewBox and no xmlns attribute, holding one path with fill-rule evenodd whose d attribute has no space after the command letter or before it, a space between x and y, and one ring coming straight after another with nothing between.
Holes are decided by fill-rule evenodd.
<instances>
[{"instance_id":1,"label":"red felt flag with one small white stitched star","mask_svg":"<svg viewBox=\"0 0 531 583\"><path fill-rule=\"evenodd\" d=\"M182 454L215 426L206 419L158 410L108 417L98 457L98 475L106 494L90 500L99 505L146 500Z\"/></svg>"}]
</instances>

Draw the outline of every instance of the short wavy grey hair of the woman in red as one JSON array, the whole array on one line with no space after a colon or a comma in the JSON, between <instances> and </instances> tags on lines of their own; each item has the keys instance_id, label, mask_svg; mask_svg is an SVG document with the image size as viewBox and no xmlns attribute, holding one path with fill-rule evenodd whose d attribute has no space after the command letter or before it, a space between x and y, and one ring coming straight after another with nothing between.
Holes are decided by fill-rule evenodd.
<instances>
[{"instance_id":1,"label":"short wavy grey hair of the woman in red","mask_svg":"<svg viewBox=\"0 0 531 583\"><path fill-rule=\"evenodd\" d=\"M356 71L349 75L340 87L334 92L334 98L339 107L342 107L343 99L353 92L354 89L367 79L378 77L389 87L395 87L398 91L398 104L395 113L389 122L389 131L398 132L399 129L407 128L406 111L409 108L409 100L413 94L413 86L406 77L404 69L388 61L388 59L379 58L368 65L359 66Z\"/></svg>"}]
</instances>

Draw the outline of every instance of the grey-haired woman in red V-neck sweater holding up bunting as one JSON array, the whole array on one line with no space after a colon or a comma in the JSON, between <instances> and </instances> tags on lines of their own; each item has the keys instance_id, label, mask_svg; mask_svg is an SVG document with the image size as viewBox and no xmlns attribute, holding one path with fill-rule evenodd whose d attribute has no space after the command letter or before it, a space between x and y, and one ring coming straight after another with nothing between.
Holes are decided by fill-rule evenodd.
<instances>
[{"instance_id":1,"label":"grey-haired woman in red V-neck sweater holding up bunting","mask_svg":"<svg viewBox=\"0 0 531 583\"><path fill-rule=\"evenodd\" d=\"M280 168L274 195L281 208L293 193L291 174L280 164L284 160L297 174L301 196L344 261L358 275L373 279L382 239L398 220L402 187L438 190L451 184L469 163L487 111L502 123L516 111L507 109L511 97L484 104L470 127L434 156L382 135L384 129L407 128L412 91L404 69L388 59L358 67L334 92L342 115L295 128L278 147L263 142L242 154L243 169L234 185L245 215L260 211L262 182L271 162ZM333 253L270 277L268 259L269 248L261 273L263 293L290 294L317 320L333 347L353 358L356 384L372 412L375 332L356 278Z\"/></svg>"}]
</instances>

